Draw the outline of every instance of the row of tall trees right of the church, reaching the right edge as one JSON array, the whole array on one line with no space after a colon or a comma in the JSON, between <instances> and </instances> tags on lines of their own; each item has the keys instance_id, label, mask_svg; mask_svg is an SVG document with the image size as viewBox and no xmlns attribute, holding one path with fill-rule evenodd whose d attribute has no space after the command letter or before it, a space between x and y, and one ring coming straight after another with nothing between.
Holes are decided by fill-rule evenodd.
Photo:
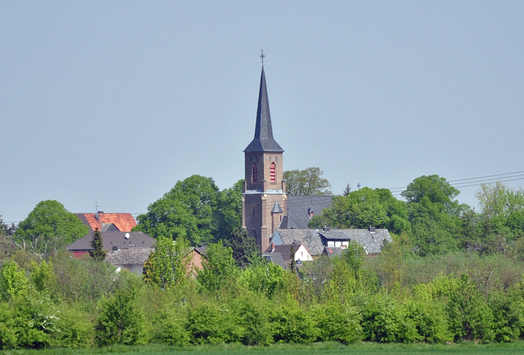
<instances>
[{"instance_id":1,"label":"row of tall trees right of the church, reaching the right edge","mask_svg":"<svg viewBox=\"0 0 524 355\"><path fill-rule=\"evenodd\" d=\"M333 197L333 205L311 219L310 227L388 228L409 237L420 256L467 251L481 255L524 251L524 192L503 183L481 185L478 209L461 204L459 190L438 175L411 182L401 201L386 188L368 187Z\"/></svg>"}]
</instances>

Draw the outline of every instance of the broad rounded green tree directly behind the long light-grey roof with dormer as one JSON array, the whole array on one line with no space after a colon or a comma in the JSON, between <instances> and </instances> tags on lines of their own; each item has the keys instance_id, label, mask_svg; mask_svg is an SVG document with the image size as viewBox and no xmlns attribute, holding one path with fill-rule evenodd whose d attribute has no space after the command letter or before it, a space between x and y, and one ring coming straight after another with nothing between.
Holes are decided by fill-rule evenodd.
<instances>
[{"instance_id":1,"label":"broad rounded green tree directly behind the long light-grey roof with dormer","mask_svg":"<svg viewBox=\"0 0 524 355\"><path fill-rule=\"evenodd\" d=\"M311 218L311 228L331 226L333 228L387 228L400 234L410 229L408 209L386 188L363 187L347 196L334 196L331 207Z\"/></svg>"}]
</instances>

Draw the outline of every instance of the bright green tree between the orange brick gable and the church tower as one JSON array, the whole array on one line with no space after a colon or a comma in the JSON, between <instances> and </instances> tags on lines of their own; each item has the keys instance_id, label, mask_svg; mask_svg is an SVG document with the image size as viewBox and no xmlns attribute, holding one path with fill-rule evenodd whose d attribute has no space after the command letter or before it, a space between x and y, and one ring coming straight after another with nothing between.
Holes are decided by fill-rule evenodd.
<instances>
[{"instance_id":1,"label":"bright green tree between the orange brick gable and the church tower","mask_svg":"<svg viewBox=\"0 0 524 355\"><path fill-rule=\"evenodd\" d=\"M233 259L233 250L224 247L222 240L208 245L202 267L196 279L212 293L228 285L239 271Z\"/></svg>"}]
</instances>

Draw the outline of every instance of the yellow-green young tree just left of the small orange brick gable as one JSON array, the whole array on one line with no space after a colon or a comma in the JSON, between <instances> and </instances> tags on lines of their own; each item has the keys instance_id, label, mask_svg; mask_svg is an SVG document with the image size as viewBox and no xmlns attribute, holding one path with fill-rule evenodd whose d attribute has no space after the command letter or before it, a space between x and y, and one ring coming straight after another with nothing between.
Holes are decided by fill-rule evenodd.
<instances>
[{"instance_id":1,"label":"yellow-green young tree just left of the small orange brick gable","mask_svg":"<svg viewBox=\"0 0 524 355\"><path fill-rule=\"evenodd\" d=\"M144 280L162 288L184 282L188 271L188 254L189 245L185 239L160 237L155 242L155 251L144 264Z\"/></svg>"}]
</instances>

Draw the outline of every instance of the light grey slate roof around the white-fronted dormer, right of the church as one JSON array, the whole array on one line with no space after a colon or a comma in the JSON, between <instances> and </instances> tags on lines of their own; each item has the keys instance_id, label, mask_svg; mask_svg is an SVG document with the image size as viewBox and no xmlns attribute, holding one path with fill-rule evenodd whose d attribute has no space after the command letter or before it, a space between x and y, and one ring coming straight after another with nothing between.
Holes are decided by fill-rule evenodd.
<instances>
[{"instance_id":1,"label":"light grey slate roof around the white-fronted dormer, right of the church","mask_svg":"<svg viewBox=\"0 0 524 355\"><path fill-rule=\"evenodd\" d=\"M384 246L384 240L393 241L387 229L331 229L331 231L319 230L322 243L327 245L328 240L355 240L359 242L368 254L378 254Z\"/></svg>"}]
</instances>

